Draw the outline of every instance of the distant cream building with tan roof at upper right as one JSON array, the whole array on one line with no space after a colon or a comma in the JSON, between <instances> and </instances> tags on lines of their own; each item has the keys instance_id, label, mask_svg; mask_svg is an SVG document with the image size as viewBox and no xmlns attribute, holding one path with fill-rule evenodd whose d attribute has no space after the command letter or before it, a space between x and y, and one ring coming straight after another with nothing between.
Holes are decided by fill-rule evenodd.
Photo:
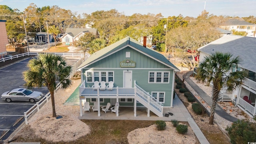
<instances>
[{"instance_id":1,"label":"distant cream building with tan roof at upper right","mask_svg":"<svg viewBox=\"0 0 256 144\"><path fill-rule=\"evenodd\" d=\"M230 31L246 32L247 36L254 36L256 30L256 24L236 19L226 20L219 24L219 27Z\"/></svg>"}]
</instances>

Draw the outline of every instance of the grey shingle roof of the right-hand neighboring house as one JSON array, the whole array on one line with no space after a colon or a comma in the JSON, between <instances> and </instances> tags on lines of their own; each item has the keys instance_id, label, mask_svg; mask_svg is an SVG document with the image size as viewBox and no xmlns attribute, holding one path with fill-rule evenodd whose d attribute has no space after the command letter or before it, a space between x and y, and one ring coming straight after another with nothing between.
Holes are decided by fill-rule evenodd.
<instances>
[{"instance_id":1,"label":"grey shingle roof of the right-hand neighboring house","mask_svg":"<svg viewBox=\"0 0 256 144\"><path fill-rule=\"evenodd\" d=\"M240 57L241 63L238 64L240 67L256 72L256 38L226 35L198 48L198 51L206 54L217 51L230 52L234 57Z\"/></svg>"}]
</instances>

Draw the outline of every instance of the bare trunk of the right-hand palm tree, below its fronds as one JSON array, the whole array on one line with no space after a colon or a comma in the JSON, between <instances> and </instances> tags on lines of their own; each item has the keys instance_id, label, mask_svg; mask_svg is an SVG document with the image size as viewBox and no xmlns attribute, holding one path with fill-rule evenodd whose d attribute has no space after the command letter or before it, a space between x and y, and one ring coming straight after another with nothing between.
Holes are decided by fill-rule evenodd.
<instances>
[{"instance_id":1,"label":"bare trunk of the right-hand palm tree, below its fronds","mask_svg":"<svg viewBox=\"0 0 256 144\"><path fill-rule=\"evenodd\" d=\"M211 113L210 113L210 119L209 119L209 124L212 124L212 125L213 125L213 120L214 120L216 104L217 104L218 98L219 98L219 93L220 93L220 90L218 90L218 88L213 86L213 88L212 88L212 107L211 107Z\"/></svg>"}]
</instances>

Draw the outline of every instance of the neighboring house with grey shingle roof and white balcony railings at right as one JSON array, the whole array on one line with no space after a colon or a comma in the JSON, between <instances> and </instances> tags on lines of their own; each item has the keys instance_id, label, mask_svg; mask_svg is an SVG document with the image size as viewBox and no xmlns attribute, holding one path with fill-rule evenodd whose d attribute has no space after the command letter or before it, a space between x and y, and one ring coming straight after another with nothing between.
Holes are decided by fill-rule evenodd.
<instances>
[{"instance_id":1,"label":"neighboring house with grey shingle roof and white balcony railings at right","mask_svg":"<svg viewBox=\"0 0 256 144\"><path fill-rule=\"evenodd\" d=\"M230 52L234 57L239 56L241 63L233 68L233 72L240 70L248 73L242 87L234 92L228 93L225 88L222 89L220 100L232 101L236 106L244 110L248 115L256 114L256 38L237 35L226 35L215 40L201 48L199 62L204 60L205 56L213 52Z\"/></svg>"}]
</instances>

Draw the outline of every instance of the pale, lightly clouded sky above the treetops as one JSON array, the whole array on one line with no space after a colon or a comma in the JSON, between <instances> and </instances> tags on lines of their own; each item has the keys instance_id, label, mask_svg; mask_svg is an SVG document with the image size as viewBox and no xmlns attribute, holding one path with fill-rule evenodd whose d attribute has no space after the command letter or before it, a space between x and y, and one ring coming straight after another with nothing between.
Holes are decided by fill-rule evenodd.
<instances>
[{"instance_id":1,"label":"pale, lightly clouded sky above the treetops","mask_svg":"<svg viewBox=\"0 0 256 144\"><path fill-rule=\"evenodd\" d=\"M97 10L116 9L126 16L132 14L159 14L196 18L205 9L216 16L256 16L256 0L0 0L0 5L24 11L30 3L38 8L59 6L60 8L91 14Z\"/></svg>"}]
</instances>

